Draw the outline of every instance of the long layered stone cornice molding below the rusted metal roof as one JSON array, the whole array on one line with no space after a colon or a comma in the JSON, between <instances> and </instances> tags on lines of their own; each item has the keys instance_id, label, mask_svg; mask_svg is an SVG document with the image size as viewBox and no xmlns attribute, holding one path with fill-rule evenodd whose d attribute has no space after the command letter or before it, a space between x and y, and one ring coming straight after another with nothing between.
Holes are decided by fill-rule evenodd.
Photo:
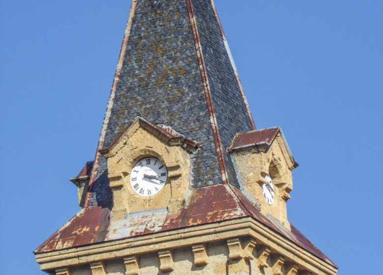
<instances>
[{"instance_id":1,"label":"long layered stone cornice molding below the rusted metal roof","mask_svg":"<svg viewBox=\"0 0 383 275\"><path fill-rule=\"evenodd\" d=\"M60 267L80 265L93 261L108 260L116 257L126 257L132 254L143 254L175 247L188 247L194 244L227 240L233 236L250 236L258 244L267 244L274 253L286 257L289 262L299 265L315 274L336 275L337 269L329 263L282 237L253 218L228 220L220 223L186 227L171 232L160 232L150 236L136 236L124 240L110 241L84 247L62 249L36 255L42 270L53 270ZM154 252L154 251L153 251Z\"/></svg>"}]
</instances>

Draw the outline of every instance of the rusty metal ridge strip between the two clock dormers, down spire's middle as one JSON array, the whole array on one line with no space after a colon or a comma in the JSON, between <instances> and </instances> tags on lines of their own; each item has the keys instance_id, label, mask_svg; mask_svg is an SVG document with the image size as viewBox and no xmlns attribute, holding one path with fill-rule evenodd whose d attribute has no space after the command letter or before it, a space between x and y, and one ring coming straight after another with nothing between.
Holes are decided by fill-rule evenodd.
<instances>
[{"instance_id":1,"label":"rusty metal ridge strip between the two clock dormers, down spire's middle","mask_svg":"<svg viewBox=\"0 0 383 275\"><path fill-rule=\"evenodd\" d=\"M209 79L208 79L208 75L207 75L207 71L206 71L203 53L202 53L202 45L201 45L201 40L200 40L199 33L198 33L198 27L197 27L195 14L194 14L192 0L186 0L186 5L188 8L190 25L192 27L192 34L193 34L193 39L194 39L194 44L195 44L195 51L197 54L199 71L201 74L203 89L205 92L206 103L207 103L209 117L210 117L210 123L212 126L213 138L214 138L214 143L216 146L218 164L219 164L221 177L222 177L222 183L228 184L229 178L227 176L225 160L224 160L224 156L223 156L223 152L222 152L222 144L221 144L221 141L219 138L218 123L217 123L217 118L216 118L216 114L214 111L212 95L211 95L211 90L210 90L210 84L209 84Z\"/></svg>"}]
</instances>

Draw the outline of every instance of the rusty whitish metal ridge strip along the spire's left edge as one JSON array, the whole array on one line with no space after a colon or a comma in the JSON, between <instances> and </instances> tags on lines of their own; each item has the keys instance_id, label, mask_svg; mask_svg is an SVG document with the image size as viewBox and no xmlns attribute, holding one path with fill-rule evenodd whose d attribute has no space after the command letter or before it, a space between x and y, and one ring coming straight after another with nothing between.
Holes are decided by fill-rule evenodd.
<instances>
[{"instance_id":1,"label":"rusty whitish metal ridge strip along the spire's left edge","mask_svg":"<svg viewBox=\"0 0 383 275\"><path fill-rule=\"evenodd\" d=\"M90 199L91 199L92 192L93 192L93 183L94 183L96 176L97 176L97 173L98 173L98 166L99 166L99 161L100 161L100 156L101 156L101 154L99 153L99 150L102 149L104 146L105 135L106 135L108 125L109 125L110 113L111 113L111 110L113 107L114 97L116 95L117 84L118 84L120 77L121 77L122 64L124 62L125 52L126 52L126 48L127 48L128 41L129 41L130 31L132 28L132 23L133 23L133 18L135 15L136 7L137 7L137 0L132 0L130 13L129 13L129 17L128 17L128 22L126 24L124 38L123 38L122 44L121 44L121 50L120 50L120 54L118 56L116 71L114 73L114 78L113 78L112 86L110 89L108 105L107 105L107 109L105 111L103 125L101 127L101 133L100 133L100 137L99 137L98 144L97 144L96 155L94 158L94 165L92 168L92 173L91 173L89 184L88 184L88 192L86 194L86 200L85 200L84 207L89 206Z\"/></svg>"}]
</instances>

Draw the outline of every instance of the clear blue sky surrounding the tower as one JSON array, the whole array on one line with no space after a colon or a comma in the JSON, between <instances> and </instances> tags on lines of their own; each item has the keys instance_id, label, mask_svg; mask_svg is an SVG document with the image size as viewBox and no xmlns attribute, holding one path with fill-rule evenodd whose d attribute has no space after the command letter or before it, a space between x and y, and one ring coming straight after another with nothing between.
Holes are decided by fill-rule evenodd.
<instances>
[{"instance_id":1,"label":"clear blue sky surrounding the tower","mask_svg":"<svg viewBox=\"0 0 383 275\"><path fill-rule=\"evenodd\" d=\"M382 261L383 1L216 0L257 128L281 126L300 166L288 215L339 267ZM78 210L129 0L0 0L0 263Z\"/></svg>"}]
</instances>

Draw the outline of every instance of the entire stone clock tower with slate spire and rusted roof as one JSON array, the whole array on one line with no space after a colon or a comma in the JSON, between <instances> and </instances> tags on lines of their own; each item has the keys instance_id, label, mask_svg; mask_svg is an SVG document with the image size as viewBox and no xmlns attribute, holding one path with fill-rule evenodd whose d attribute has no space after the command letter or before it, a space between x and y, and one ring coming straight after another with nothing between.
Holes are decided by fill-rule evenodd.
<instances>
[{"instance_id":1,"label":"entire stone clock tower with slate spire and rusted roof","mask_svg":"<svg viewBox=\"0 0 383 275\"><path fill-rule=\"evenodd\" d=\"M132 0L82 210L35 251L56 275L335 275L288 220L295 162L257 130L213 0Z\"/></svg>"}]
</instances>

